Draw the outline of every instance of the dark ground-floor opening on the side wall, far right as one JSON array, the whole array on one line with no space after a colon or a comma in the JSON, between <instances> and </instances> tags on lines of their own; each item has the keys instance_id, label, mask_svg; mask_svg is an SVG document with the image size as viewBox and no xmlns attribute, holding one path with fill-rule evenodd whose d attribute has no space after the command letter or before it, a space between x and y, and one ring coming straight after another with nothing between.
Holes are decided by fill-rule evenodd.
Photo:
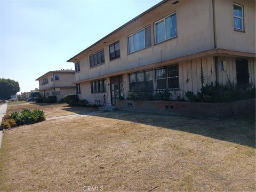
<instances>
[{"instance_id":1,"label":"dark ground-floor opening on the side wall, far right","mask_svg":"<svg viewBox=\"0 0 256 192\"><path fill-rule=\"evenodd\" d=\"M238 85L249 84L248 60L236 59L236 79Z\"/></svg>"}]
</instances>

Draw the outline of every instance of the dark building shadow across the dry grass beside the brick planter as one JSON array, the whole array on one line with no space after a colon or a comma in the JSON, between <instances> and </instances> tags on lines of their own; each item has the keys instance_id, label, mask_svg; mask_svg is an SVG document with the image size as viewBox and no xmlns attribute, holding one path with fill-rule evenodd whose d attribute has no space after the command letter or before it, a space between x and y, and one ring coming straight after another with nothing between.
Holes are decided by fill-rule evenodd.
<instances>
[{"instance_id":1,"label":"dark building shadow across the dry grass beside the brick planter","mask_svg":"<svg viewBox=\"0 0 256 192\"><path fill-rule=\"evenodd\" d=\"M93 116L184 131L255 148L255 113L234 115L222 120L196 119L183 116L128 111L114 111L111 113L95 114Z\"/></svg>"}]
</instances>

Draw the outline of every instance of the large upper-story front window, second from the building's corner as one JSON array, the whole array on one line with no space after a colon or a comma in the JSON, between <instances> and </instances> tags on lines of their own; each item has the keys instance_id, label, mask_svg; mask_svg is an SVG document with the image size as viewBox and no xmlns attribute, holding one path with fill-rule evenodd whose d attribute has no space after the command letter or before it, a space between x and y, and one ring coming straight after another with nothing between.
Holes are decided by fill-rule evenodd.
<instances>
[{"instance_id":1,"label":"large upper-story front window, second from the building's corner","mask_svg":"<svg viewBox=\"0 0 256 192\"><path fill-rule=\"evenodd\" d=\"M151 28L143 28L128 36L129 53L141 50L151 45Z\"/></svg>"}]
</instances>

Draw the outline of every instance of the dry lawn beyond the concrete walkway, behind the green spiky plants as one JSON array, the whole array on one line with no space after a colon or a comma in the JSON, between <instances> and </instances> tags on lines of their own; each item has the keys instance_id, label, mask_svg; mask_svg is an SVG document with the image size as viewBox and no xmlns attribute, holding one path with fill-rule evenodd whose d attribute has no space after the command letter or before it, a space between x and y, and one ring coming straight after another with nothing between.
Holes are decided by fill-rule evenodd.
<instances>
[{"instance_id":1,"label":"dry lawn beyond the concrete walkway, behind the green spiky plants","mask_svg":"<svg viewBox=\"0 0 256 192\"><path fill-rule=\"evenodd\" d=\"M12 111L21 111L22 109L41 109L44 110L44 114L46 118L48 117L57 117L64 115L72 115L77 113L88 113L98 109L95 108L86 108L86 107L70 107L67 103L21 103L18 105L12 104L8 105L7 113L10 114Z\"/></svg>"}]
</instances>

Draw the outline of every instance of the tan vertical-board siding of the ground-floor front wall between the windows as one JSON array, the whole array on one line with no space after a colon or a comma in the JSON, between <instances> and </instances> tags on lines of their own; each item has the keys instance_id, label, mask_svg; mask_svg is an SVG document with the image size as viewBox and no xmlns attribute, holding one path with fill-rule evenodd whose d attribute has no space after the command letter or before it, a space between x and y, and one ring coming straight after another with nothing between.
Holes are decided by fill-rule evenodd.
<instances>
[{"instance_id":1,"label":"tan vertical-board siding of the ground-floor front wall between the windows","mask_svg":"<svg viewBox=\"0 0 256 192\"><path fill-rule=\"evenodd\" d=\"M197 93L201 89L201 63L203 68L204 85L206 83L215 82L215 67L213 57L206 57L196 60L179 62L179 87L180 90L171 91L172 99L177 99L178 96L185 98L185 93L187 91L193 91ZM176 63L170 63L174 65ZM155 80L155 69L153 70L154 76L154 90L156 90L156 80ZM109 77L107 78L107 84L110 83ZM124 81L124 98L126 99L129 94L129 74L123 74ZM111 105L110 100L110 86L107 85L107 93L91 93L90 82L81 83L81 94L79 94L79 99L86 99L89 102L95 103L100 100L103 102L103 95L106 94L106 103Z\"/></svg>"}]
</instances>

